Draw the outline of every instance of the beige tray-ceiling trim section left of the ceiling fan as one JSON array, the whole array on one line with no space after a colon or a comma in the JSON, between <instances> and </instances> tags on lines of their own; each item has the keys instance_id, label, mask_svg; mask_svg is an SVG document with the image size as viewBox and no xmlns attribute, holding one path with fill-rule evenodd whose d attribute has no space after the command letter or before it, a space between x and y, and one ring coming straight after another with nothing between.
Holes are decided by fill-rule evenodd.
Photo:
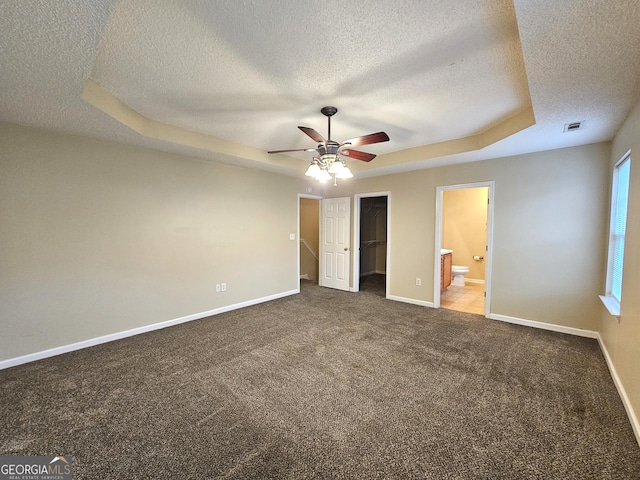
<instances>
[{"instance_id":1,"label":"beige tray-ceiling trim section left of the ceiling fan","mask_svg":"<svg viewBox=\"0 0 640 480\"><path fill-rule=\"evenodd\" d=\"M165 140L167 142L201 148L212 152L222 153L237 158L253 160L276 167L290 167L299 169L300 160L285 155L269 155L264 150L230 142L222 138L195 132L168 123L158 122L141 115L107 89L93 80L87 80L82 92L82 99L103 111L118 122L145 137Z\"/></svg>"}]
</instances>

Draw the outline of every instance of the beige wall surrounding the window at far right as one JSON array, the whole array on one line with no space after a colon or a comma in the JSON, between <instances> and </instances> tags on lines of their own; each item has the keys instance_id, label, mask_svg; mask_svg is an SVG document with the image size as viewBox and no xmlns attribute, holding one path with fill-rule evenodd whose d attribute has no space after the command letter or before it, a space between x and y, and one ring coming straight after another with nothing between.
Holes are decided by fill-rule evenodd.
<instances>
[{"instance_id":1,"label":"beige wall surrounding the window at far right","mask_svg":"<svg viewBox=\"0 0 640 480\"><path fill-rule=\"evenodd\" d=\"M618 130L608 165L613 166L631 150L631 181L624 250L620 321L600 306L600 335L629 399L636 422L640 416L640 103ZM608 203L608 202L607 202ZM604 282L600 292L604 294ZM636 423L636 428L639 425ZM640 438L640 432L636 435Z\"/></svg>"}]
</instances>

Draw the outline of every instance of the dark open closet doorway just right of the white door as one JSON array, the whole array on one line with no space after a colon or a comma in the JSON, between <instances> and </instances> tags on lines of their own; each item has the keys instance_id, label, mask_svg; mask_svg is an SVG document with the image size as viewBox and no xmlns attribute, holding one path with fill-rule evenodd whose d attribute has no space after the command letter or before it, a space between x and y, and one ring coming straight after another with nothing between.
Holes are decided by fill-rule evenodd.
<instances>
[{"instance_id":1,"label":"dark open closet doorway just right of the white door","mask_svg":"<svg viewBox=\"0 0 640 480\"><path fill-rule=\"evenodd\" d=\"M354 208L354 290L388 294L388 192L356 195Z\"/></svg>"}]
</instances>

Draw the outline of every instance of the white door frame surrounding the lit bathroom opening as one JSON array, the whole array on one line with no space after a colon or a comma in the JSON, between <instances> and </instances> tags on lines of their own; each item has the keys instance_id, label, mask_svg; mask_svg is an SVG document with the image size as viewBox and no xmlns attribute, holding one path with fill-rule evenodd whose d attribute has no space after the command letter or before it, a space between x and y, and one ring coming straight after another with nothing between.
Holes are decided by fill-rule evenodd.
<instances>
[{"instance_id":1,"label":"white door frame surrounding the lit bathroom opening","mask_svg":"<svg viewBox=\"0 0 640 480\"><path fill-rule=\"evenodd\" d=\"M493 215L495 205L496 182L493 180L486 182L464 183L458 185L446 185L436 187L436 238L434 253L434 274L433 274L433 306L440 308L440 250L442 249L442 203L446 190L463 190L467 188L489 188L489 204L487 205L487 251L485 252L485 275L484 275L484 316L491 315L491 272L493 265Z\"/></svg>"}]
</instances>

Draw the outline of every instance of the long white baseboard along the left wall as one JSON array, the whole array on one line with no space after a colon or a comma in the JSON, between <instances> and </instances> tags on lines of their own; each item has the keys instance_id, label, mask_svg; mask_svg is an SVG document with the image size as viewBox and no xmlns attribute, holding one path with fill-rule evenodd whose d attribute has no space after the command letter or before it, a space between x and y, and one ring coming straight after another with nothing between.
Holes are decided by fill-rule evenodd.
<instances>
[{"instance_id":1,"label":"long white baseboard along the left wall","mask_svg":"<svg viewBox=\"0 0 640 480\"><path fill-rule=\"evenodd\" d=\"M191 322L193 320L199 320L201 318L211 317L213 315L218 315L220 313L230 312L232 310L237 310L239 308L249 307L251 305L257 305L259 303L276 300L278 298L288 297L289 295L294 295L296 293L300 293L300 290L296 289L296 290L289 290L288 292L276 293L274 295L269 295L262 298L256 298L253 300L248 300L246 302L240 302L233 305L226 305L224 307L214 308L213 310L208 310L206 312L194 313L192 315L175 318L173 320L167 320L165 322L159 322L159 323L154 323L152 325L145 325L143 327L132 328L131 330L111 333L109 335L91 338L89 340L83 340L81 342L72 343L70 345L62 345L60 347L43 350L41 352L30 353L28 355L23 355L21 357L2 360L0 361L0 370L4 370L5 368L10 368L10 367L15 367L17 365L22 365L24 363L35 362L36 360L42 360L43 358L54 357L56 355L61 355L63 353L73 352L75 350L81 350L83 348L93 347L95 345L100 345L101 343L113 342L114 340L133 337L134 335L139 335L141 333L152 332L153 330L160 330L161 328L167 328L173 325L179 325L181 323L186 323L186 322Z\"/></svg>"}]
</instances>

